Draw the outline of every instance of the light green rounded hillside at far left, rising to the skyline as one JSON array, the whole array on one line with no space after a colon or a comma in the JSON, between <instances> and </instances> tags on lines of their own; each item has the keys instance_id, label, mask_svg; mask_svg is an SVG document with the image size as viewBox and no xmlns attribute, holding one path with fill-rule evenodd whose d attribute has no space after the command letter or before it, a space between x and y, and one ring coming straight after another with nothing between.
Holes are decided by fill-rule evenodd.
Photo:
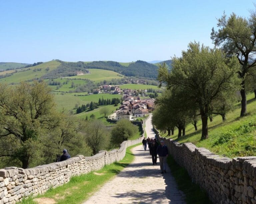
<instances>
[{"instance_id":1,"label":"light green rounded hillside at far left, rising to the skyline","mask_svg":"<svg viewBox=\"0 0 256 204\"><path fill-rule=\"evenodd\" d=\"M55 60L48 61L42 64L39 64L37 66L30 67L30 70L22 71L14 73L12 76L5 77L0 79L0 82L2 83L20 83L21 81L26 81L34 78L40 78L47 72L52 71L53 69L56 69L60 65L60 62L57 62ZM49 70L47 71L47 67L49 67ZM40 71L33 71L34 69L41 69Z\"/></svg>"}]
</instances>

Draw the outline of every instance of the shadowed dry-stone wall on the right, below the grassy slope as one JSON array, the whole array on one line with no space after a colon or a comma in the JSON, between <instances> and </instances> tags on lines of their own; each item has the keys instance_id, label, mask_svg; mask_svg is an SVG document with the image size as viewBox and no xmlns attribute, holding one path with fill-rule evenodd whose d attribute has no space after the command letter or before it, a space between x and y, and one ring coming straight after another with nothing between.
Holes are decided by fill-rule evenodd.
<instances>
[{"instance_id":1,"label":"shadowed dry-stone wall on the right, below the grassy slope","mask_svg":"<svg viewBox=\"0 0 256 204\"><path fill-rule=\"evenodd\" d=\"M256 203L256 156L218 156L192 143L161 138L175 161L205 189L213 203Z\"/></svg>"}]
</instances>

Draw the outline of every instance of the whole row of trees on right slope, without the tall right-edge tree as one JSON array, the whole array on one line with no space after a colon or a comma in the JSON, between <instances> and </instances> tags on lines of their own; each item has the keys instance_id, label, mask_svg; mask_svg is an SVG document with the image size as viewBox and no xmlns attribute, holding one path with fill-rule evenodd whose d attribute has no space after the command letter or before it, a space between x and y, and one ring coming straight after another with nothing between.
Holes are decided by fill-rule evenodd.
<instances>
[{"instance_id":1,"label":"whole row of trees on right slope, without the tall right-edge tree","mask_svg":"<svg viewBox=\"0 0 256 204\"><path fill-rule=\"evenodd\" d=\"M208 138L208 118L222 115L232 108L241 79L237 77L239 63L235 56L225 57L221 49L210 49L190 43L181 57L173 58L169 72L165 64L159 66L158 79L167 84L167 91L158 98L153 123L170 131L178 128L178 137L185 135L185 126L196 127L202 120L201 139ZM165 114L169 113L169 114Z\"/></svg>"}]
</instances>

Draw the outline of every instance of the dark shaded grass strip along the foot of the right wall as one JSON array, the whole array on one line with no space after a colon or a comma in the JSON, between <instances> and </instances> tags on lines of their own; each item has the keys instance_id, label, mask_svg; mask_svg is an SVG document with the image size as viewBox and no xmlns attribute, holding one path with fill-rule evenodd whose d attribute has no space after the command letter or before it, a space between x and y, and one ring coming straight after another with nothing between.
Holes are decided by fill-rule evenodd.
<instances>
[{"instance_id":1,"label":"dark shaded grass strip along the foot of the right wall","mask_svg":"<svg viewBox=\"0 0 256 204\"><path fill-rule=\"evenodd\" d=\"M192 182L185 168L180 167L172 156L167 157L167 163L171 169L171 173L176 180L179 190L183 191L186 195L187 204L205 204L211 203L207 193L201 190L199 185Z\"/></svg>"}]
</instances>

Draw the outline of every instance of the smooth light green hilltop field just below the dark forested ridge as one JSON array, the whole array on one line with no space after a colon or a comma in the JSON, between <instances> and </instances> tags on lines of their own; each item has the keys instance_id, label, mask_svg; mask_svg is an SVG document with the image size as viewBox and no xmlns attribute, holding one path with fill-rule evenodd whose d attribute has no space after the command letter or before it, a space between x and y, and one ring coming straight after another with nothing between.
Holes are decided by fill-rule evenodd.
<instances>
[{"instance_id":1,"label":"smooth light green hilltop field just below the dark forested ridge","mask_svg":"<svg viewBox=\"0 0 256 204\"><path fill-rule=\"evenodd\" d=\"M70 76L66 77L69 79L72 78L82 78L82 79L90 79L94 82L100 82L100 81L110 81L111 79L121 79L121 76L119 73L110 71L110 70L104 70L104 69L88 69L91 74L84 74L84 75L79 75L79 76Z\"/></svg>"}]
</instances>

